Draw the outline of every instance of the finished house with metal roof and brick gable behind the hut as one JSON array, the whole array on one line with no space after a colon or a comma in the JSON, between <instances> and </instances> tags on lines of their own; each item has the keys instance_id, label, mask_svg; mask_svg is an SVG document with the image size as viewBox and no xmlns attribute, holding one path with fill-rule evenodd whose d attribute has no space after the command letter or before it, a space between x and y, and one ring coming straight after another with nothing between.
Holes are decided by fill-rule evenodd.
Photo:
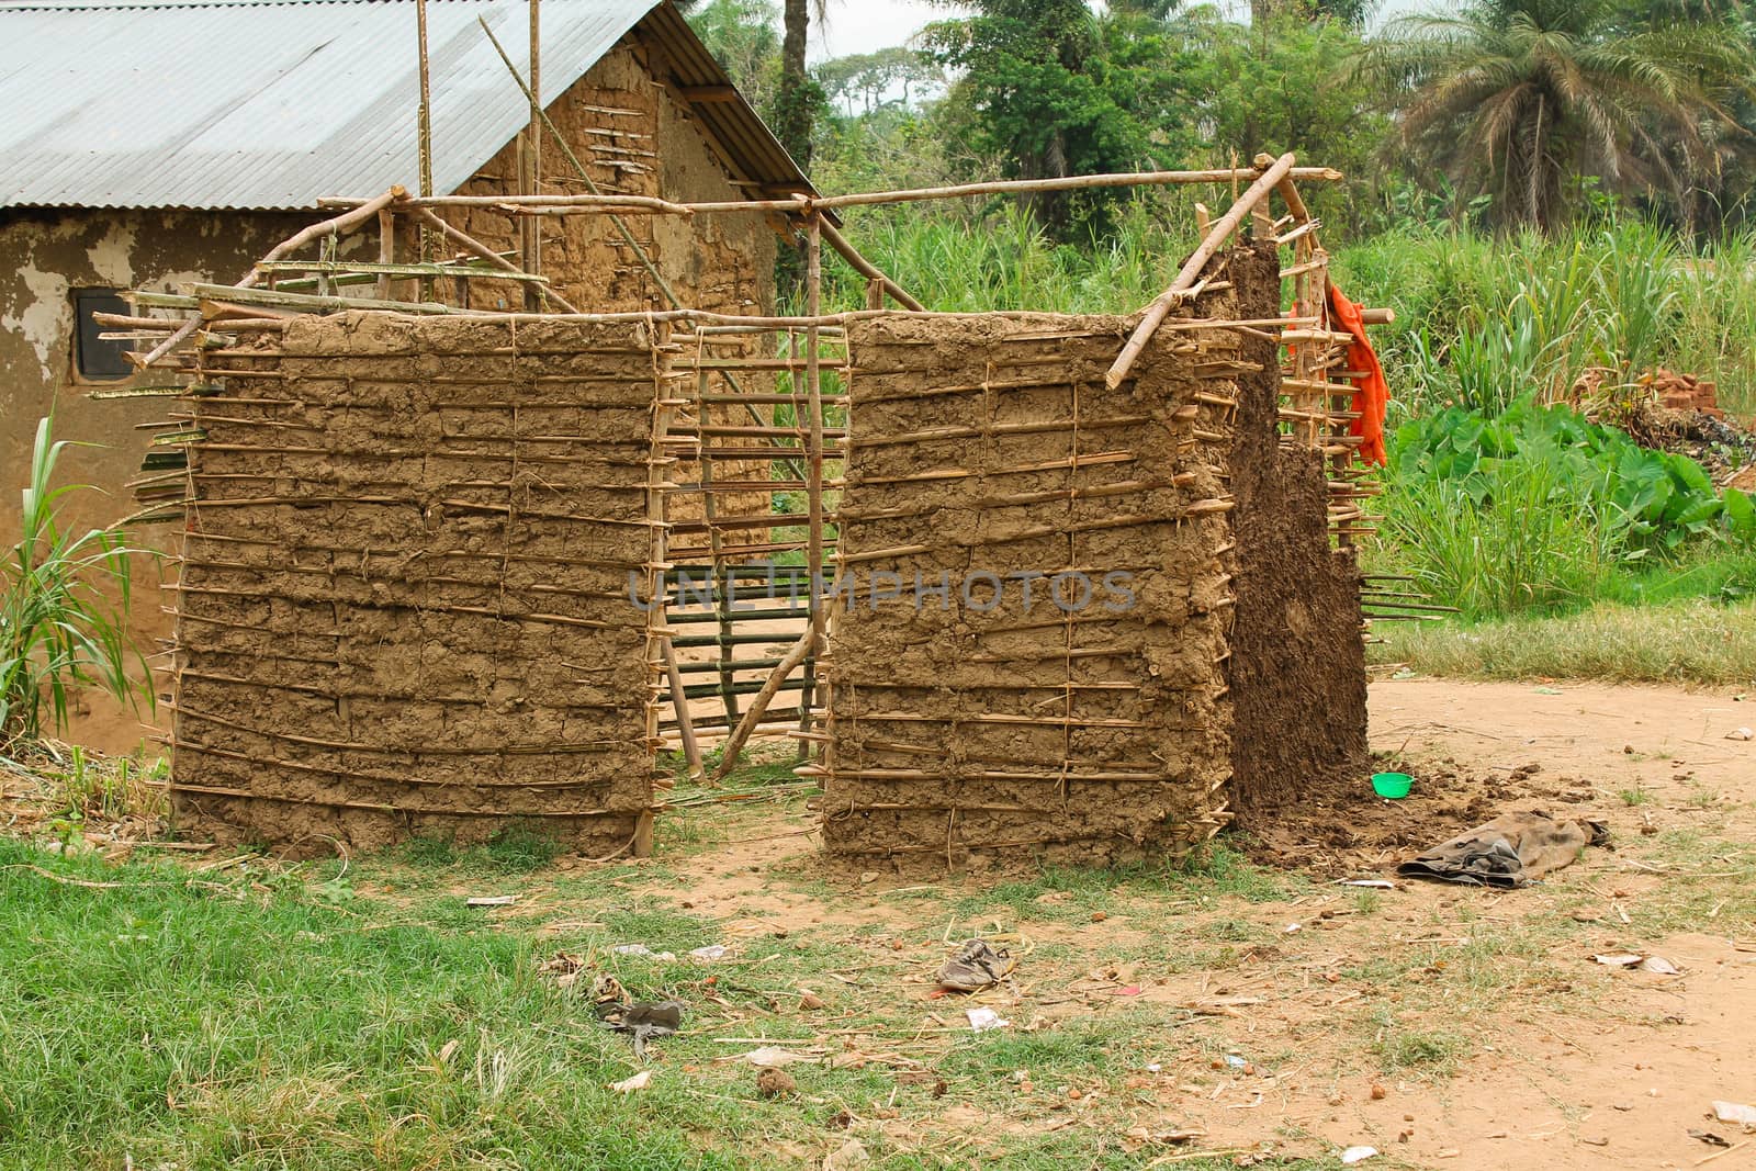
<instances>
[{"instance_id":1,"label":"finished house with metal roof and brick gable behind the hut","mask_svg":"<svg viewBox=\"0 0 1756 1171\"><path fill-rule=\"evenodd\" d=\"M434 186L516 193L530 109L478 18L529 75L523 0L428 4ZM541 26L548 114L602 190L678 200L810 190L671 4L543 0ZM418 190L416 44L406 0L0 5L0 544L18 535L16 486L51 409L60 437L100 444L70 453L67 476L109 493L83 493L70 521L137 507L126 488L137 430L163 406L88 399L128 379L126 344L102 341L91 313L125 311L121 290L239 279L314 219L321 197ZM587 188L544 142L536 190ZM666 307L606 218L539 223L541 270L576 305ZM458 225L518 248L504 216L472 211ZM685 304L773 305L778 237L762 218L629 228ZM156 590L142 595L137 629L165 632Z\"/></svg>"}]
</instances>

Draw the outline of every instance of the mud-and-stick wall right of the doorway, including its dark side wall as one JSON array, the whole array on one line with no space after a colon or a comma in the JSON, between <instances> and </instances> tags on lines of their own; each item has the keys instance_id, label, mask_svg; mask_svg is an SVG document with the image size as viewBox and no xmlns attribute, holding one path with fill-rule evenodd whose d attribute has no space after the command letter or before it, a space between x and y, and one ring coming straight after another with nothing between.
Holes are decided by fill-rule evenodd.
<instances>
[{"instance_id":1,"label":"mud-and-stick wall right of the doorway, including its dark side wall","mask_svg":"<svg viewBox=\"0 0 1756 1171\"><path fill-rule=\"evenodd\" d=\"M1271 248L1222 270L1191 316L1278 314ZM1275 341L1169 325L1106 392L1131 325L850 325L831 853L1177 853L1357 764L1357 571L1321 456L1280 446Z\"/></svg>"}]
</instances>

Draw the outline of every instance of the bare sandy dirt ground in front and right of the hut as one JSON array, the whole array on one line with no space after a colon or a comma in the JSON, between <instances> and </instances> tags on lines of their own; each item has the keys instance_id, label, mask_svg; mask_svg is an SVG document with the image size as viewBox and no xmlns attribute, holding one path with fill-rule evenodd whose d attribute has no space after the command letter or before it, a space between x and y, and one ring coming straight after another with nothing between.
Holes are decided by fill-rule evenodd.
<instances>
[{"instance_id":1,"label":"bare sandy dirt ground in front and right of the hut","mask_svg":"<svg viewBox=\"0 0 1756 1171\"><path fill-rule=\"evenodd\" d=\"M1380 1152L1368 1167L1756 1166L1756 1134L1710 1117L1714 1099L1756 1104L1756 741L1728 739L1756 725L1756 699L1385 678L1370 704L1373 751L1415 776L1407 801L1359 778L1187 876L848 874L818 860L804 801L694 806L660 820L655 858L562 860L520 880L495 920L587 952L622 939L590 945L602 923L583 920L660 911L723 941L738 981L785 985L727 1001L711 969L604 960L690 1002L697 1048L671 1041L657 1076L743 1097L745 1074L715 1052L760 1043L827 1066L788 1071L801 1103L845 1103L841 1129L771 1120L764 1150L788 1166L848 1134L878 1166L1018 1150L1066 1152L1066 1166L1101 1152L1335 1166L1356 1145ZM1610 844L1515 892L1336 883L1531 808L1601 820ZM414 881L481 892L479 876L411 880L369 858L355 874L392 902ZM975 934L1013 950L1011 985L934 997L939 962ZM1621 952L1680 974L1593 959ZM806 1011L794 981L822 1004ZM1011 1024L973 1038L973 1006ZM813 1074L843 1060L889 1069L882 1092L811 1097Z\"/></svg>"}]
</instances>

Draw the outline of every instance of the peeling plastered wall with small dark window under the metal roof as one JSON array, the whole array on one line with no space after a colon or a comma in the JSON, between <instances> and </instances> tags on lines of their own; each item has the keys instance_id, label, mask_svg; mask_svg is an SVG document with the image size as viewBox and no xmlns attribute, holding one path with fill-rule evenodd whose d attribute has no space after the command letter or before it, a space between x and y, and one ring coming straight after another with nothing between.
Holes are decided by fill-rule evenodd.
<instances>
[{"instance_id":1,"label":"peeling plastered wall with small dark window under the metal roof","mask_svg":"<svg viewBox=\"0 0 1756 1171\"><path fill-rule=\"evenodd\" d=\"M37 420L54 413L58 439L68 448L60 483L91 485L63 499L68 528L109 525L137 511L126 483L140 471L140 423L163 418L153 400L95 402L88 392L121 383L83 383L74 370L76 288L149 288L181 291L184 281L235 281L309 216L200 211L0 211L0 546L19 535L19 488L30 469ZM135 542L174 551L176 532L140 528ZM151 650L170 634L162 611L158 574L135 558L140 588L132 621ZM133 720L116 748L139 743ZM90 743L90 741L88 741Z\"/></svg>"}]
</instances>

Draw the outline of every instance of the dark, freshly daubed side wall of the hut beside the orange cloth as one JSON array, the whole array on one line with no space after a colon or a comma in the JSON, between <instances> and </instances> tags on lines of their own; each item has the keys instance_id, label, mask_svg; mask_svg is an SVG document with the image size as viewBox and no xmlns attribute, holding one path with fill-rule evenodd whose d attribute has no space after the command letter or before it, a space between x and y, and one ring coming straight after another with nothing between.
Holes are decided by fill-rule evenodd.
<instances>
[{"instance_id":1,"label":"dark, freshly daubed side wall of the hut beside the orange cloth","mask_svg":"<svg viewBox=\"0 0 1756 1171\"><path fill-rule=\"evenodd\" d=\"M1278 305L1273 248L1231 255L1250 316ZM1238 614L1227 672L1233 699L1233 806L1249 827L1299 788L1366 760L1366 651L1359 565L1333 548L1328 474L1319 453L1278 442L1275 344L1245 339L1261 372L1238 379L1238 428L1227 456L1238 500Z\"/></svg>"}]
</instances>

